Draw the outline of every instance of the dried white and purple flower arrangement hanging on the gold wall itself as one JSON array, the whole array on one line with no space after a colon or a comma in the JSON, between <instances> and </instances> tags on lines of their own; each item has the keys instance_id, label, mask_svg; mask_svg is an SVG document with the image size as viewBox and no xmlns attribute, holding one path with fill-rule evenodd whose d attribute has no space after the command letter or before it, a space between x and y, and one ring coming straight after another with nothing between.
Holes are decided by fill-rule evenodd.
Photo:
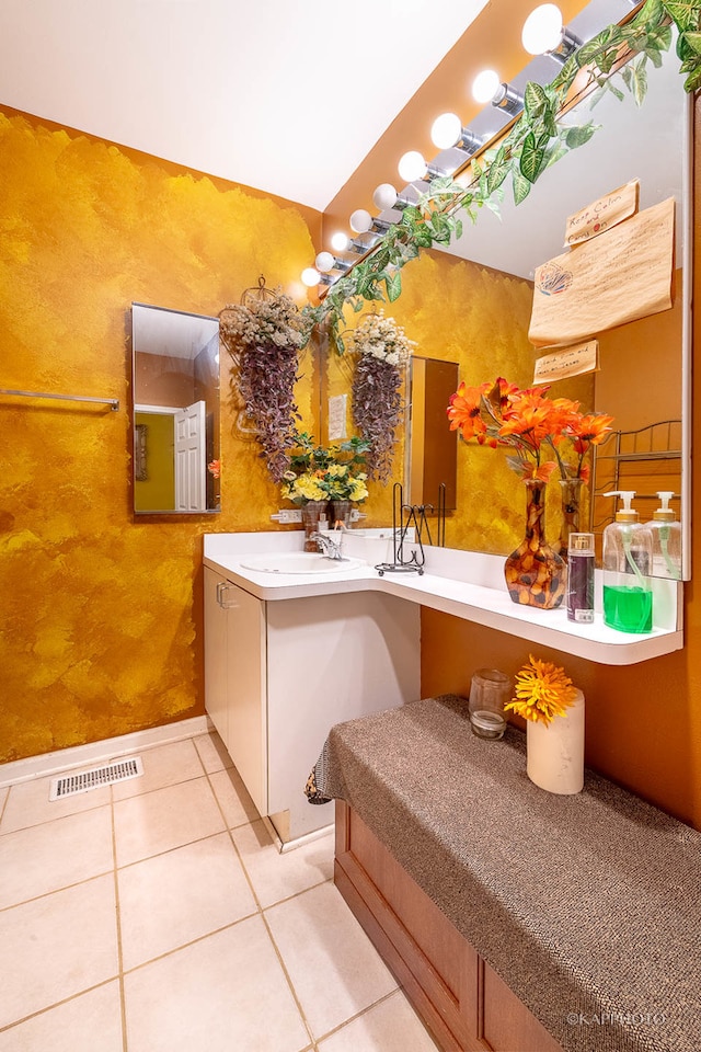
<instances>
[{"instance_id":1,"label":"dried white and purple flower arrangement hanging on the gold wall itself","mask_svg":"<svg viewBox=\"0 0 701 1052\"><path fill-rule=\"evenodd\" d=\"M231 387L239 430L255 435L271 478L280 482L300 419L295 382L309 323L288 296L266 288L261 276L258 287L248 289L240 304L223 308L219 325L234 364Z\"/></svg>"}]
</instances>

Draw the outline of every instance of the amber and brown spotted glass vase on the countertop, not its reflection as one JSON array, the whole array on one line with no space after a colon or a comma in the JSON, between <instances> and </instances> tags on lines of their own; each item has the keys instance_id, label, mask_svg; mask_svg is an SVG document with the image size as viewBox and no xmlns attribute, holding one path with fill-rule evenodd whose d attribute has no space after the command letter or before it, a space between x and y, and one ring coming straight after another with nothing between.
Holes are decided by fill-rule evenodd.
<instances>
[{"instance_id":1,"label":"amber and brown spotted glass vase on the countertop, not its reflection","mask_svg":"<svg viewBox=\"0 0 701 1052\"><path fill-rule=\"evenodd\" d=\"M545 483L525 479L526 536L504 565L514 603L541 610L559 607L564 598L566 567L545 540Z\"/></svg>"}]
</instances>

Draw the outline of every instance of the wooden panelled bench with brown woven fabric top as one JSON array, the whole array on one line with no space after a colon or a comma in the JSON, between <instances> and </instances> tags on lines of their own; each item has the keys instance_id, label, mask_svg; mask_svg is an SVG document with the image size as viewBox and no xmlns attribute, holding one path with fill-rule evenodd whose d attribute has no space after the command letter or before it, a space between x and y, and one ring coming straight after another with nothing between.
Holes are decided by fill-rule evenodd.
<instances>
[{"instance_id":1,"label":"wooden panelled bench with brown woven fabric top","mask_svg":"<svg viewBox=\"0 0 701 1052\"><path fill-rule=\"evenodd\" d=\"M334 727L336 883L440 1045L699 1052L701 834L600 776L526 776L430 698Z\"/></svg>"}]
</instances>

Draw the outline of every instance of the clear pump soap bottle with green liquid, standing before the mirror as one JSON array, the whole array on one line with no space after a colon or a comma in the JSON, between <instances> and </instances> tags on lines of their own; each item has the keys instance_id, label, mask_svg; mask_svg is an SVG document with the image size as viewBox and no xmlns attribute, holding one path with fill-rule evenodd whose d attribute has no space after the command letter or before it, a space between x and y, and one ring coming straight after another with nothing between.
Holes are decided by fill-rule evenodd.
<instances>
[{"instance_id":1,"label":"clear pump soap bottle with green liquid, standing before the mirror","mask_svg":"<svg viewBox=\"0 0 701 1052\"><path fill-rule=\"evenodd\" d=\"M604 624L621 632L650 632L653 627L653 592L648 574L653 565L652 529L631 507L633 490L614 490L623 507L604 530Z\"/></svg>"}]
</instances>

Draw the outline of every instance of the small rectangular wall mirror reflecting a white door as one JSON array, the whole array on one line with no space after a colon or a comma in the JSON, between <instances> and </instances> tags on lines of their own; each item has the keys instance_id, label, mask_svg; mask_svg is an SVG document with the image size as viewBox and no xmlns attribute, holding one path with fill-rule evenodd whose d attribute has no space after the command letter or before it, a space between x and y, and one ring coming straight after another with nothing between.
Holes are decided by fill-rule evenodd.
<instances>
[{"instance_id":1,"label":"small rectangular wall mirror reflecting a white door","mask_svg":"<svg viewBox=\"0 0 701 1052\"><path fill-rule=\"evenodd\" d=\"M220 511L219 320L131 305L134 511Z\"/></svg>"}]
</instances>

